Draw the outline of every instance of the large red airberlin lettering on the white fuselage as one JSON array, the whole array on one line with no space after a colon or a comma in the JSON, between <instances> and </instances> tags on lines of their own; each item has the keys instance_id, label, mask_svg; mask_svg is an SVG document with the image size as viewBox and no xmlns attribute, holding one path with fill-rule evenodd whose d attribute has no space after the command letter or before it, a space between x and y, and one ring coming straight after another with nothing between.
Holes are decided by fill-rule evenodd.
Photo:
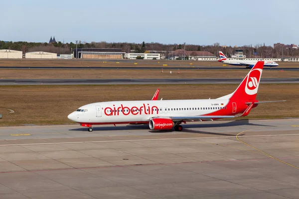
<instances>
[{"instance_id":1,"label":"large red airberlin lettering on the white fuselage","mask_svg":"<svg viewBox=\"0 0 299 199\"><path fill-rule=\"evenodd\" d=\"M146 104L143 104L143 106L137 107L137 106L133 106L133 107L128 107L128 106L124 106L123 104L121 104L121 106L119 107L115 107L115 105L113 104L113 107L106 107L104 109L104 114L107 116L111 116L111 115L129 115L129 114L133 114L133 115L137 115L137 114L142 114L144 112L144 114L148 115L148 114L153 114L153 111L156 111L156 114L158 114L158 107L157 106L152 106L150 107L150 105L148 104L148 106L146 107Z\"/></svg>"}]
</instances>

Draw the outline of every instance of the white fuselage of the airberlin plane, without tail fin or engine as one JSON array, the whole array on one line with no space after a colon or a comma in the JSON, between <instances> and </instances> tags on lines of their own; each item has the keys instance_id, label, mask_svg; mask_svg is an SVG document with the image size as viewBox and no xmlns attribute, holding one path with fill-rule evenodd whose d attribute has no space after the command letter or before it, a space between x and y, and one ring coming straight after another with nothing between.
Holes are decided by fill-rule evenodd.
<instances>
[{"instance_id":1,"label":"white fuselage of the airberlin plane, without tail fin or engine","mask_svg":"<svg viewBox=\"0 0 299 199\"><path fill-rule=\"evenodd\" d=\"M81 124L148 123L155 116L235 115L247 108L228 99L109 101L81 106L68 118Z\"/></svg>"}]
</instances>

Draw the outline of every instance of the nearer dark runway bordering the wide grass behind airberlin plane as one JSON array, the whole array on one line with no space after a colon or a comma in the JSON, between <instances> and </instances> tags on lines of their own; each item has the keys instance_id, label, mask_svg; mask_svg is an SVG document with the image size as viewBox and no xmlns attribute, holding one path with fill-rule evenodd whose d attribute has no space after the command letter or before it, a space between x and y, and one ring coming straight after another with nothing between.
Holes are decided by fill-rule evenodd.
<instances>
[{"instance_id":1,"label":"nearer dark runway bordering the wide grass behind airberlin plane","mask_svg":"<svg viewBox=\"0 0 299 199\"><path fill-rule=\"evenodd\" d=\"M0 79L0 85L240 84L243 79ZM299 78L264 78L261 84L298 84Z\"/></svg>"}]
</instances>

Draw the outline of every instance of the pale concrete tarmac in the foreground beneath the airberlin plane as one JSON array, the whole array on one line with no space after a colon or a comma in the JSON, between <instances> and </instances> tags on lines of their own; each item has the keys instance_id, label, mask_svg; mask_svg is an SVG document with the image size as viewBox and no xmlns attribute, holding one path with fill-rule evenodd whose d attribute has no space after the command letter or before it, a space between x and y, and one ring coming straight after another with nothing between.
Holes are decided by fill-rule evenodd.
<instances>
[{"instance_id":1,"label":"pale concrete tarmac in the foreground beneath the airberlin plane","mask_svg":"<svg viewBox=\"0 0 299 199\"><path fill-rule=\"evenodd\" d=\"M299 119L183 126L0 127L0 198L298 198Z\"/></svg>"}]
</instances>

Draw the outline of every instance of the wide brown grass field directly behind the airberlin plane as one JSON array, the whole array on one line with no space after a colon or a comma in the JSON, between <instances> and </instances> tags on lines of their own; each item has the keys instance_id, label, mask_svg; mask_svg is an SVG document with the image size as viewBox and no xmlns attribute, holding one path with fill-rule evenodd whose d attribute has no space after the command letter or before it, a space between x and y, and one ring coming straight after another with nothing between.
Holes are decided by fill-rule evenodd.
<instances>
[{"instance_id":1,"label":"wide brown grass field directly behind the airberlin plane","mask_svg":"<svg viewBox=\"0 0 299 199\"><path fill-rule=\"evenodd\" d=\"M233 92L237 85L120 85L120 86L0 86L0 107L15 110L3 114L0 126L72 123L67 115L79 106L112 100L150 100L160 89L159 98L213 99ZM260 104L249 118L299 117L297 84L260 85L258 100L287 100ZM5 113L0 108L0 113ZM246 117L248 118L248 117Z\"/></svg>"}]
</instances>

